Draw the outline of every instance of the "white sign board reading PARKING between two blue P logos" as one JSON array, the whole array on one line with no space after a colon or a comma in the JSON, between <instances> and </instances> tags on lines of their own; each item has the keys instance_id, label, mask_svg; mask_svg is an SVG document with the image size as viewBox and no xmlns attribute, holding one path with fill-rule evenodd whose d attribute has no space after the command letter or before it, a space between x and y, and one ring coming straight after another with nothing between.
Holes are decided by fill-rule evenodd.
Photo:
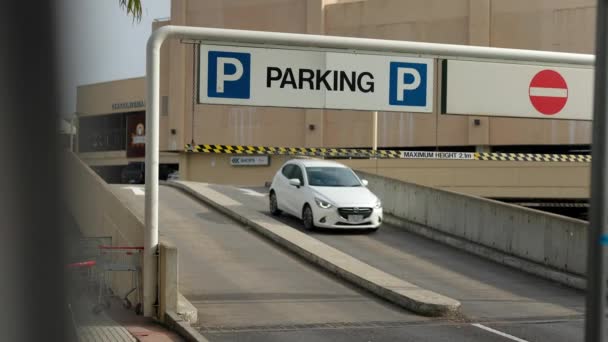
<instances>
[{"instance_id":1,"label":"white sign board reading PARKING between two blue P logos","mask_svg":"<svg viewBox=\"0 0 608 342\"><path fill-rule=\"evenodd\" d=\"M433 111L431 58L202 45L199 103Z\"/></svg>"}]
</instances>

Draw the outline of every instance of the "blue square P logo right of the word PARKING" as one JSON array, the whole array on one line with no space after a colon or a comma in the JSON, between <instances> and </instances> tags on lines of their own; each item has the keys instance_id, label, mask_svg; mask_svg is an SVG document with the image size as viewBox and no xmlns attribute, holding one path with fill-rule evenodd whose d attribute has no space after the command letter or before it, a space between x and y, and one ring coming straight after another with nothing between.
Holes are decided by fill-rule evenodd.
<instances>
[{"instance_id":1,"label":"blue square P logo right of the word PARKING","mask_svg":"<svg viewBox=\"0 0 608 342\"><path fill-rule=\"evenodd\" d=\"M394 106L426 106L427 65L390 63L388 103Z\"/></svg>"}]
</instances>

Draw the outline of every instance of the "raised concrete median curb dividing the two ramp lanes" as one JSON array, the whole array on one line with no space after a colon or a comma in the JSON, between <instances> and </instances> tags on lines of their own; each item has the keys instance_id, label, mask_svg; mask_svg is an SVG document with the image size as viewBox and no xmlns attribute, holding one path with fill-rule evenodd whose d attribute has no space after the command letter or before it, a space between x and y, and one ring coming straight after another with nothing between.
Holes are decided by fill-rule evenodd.
<instances>
[{"instance_id":1,"label":"raised concrete median curb dividing the two ramp lanes","mask_svg":"<svg viewBox=\"0 0 608 342\"><path fill-rule=\"evenodd\" d=\"M376 269L296 229L249 209L203 183L172 181L167 185L189 193L309 262L400 307L424 316L458 314L459 301L422 289Z\"/></svg>"}]
</instances>

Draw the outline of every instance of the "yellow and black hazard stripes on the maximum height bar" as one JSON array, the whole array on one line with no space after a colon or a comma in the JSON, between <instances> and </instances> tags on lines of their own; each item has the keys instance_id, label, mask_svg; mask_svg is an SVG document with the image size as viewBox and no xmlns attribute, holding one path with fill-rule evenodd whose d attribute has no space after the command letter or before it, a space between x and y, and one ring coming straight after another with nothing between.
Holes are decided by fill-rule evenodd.
<instances>
[{"instance_id":1,"label":"yellow and black hazard stripes on the maximum height bar","mask_svg":"<svg viewBox=\"0 0 608 342\"><path fill-rule=\"evenodd\" d=\"M397 150L366 150L325 147L268 147L245 145L190 145L186 152L225 153L250 155L295 155L326 158L383 158L397 159L401 151ZM591 162L590 155L577 154L532 154L532 153L475 153L473 160L486 161L533 161L533 162Z\"/></svg>"}]
</instances>

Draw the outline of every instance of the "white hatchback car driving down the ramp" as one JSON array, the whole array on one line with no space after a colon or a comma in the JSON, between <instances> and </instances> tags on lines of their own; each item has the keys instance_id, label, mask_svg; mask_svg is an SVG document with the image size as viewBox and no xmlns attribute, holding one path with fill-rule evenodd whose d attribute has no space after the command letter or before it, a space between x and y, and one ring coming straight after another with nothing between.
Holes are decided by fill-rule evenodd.
<instances>
[{"instance_id":1,"label":"white hatchback car driving down the ramp","mask_svg":"<svg viewBox=\"0 0 608 342\"><path fill-rule=\"evenodd\" d=\"M307 230L363 228L382 224L382 203L350 168L331 161L294 159L270 185L270 212L302 219Z\"/></svg>"}]
</instances>

